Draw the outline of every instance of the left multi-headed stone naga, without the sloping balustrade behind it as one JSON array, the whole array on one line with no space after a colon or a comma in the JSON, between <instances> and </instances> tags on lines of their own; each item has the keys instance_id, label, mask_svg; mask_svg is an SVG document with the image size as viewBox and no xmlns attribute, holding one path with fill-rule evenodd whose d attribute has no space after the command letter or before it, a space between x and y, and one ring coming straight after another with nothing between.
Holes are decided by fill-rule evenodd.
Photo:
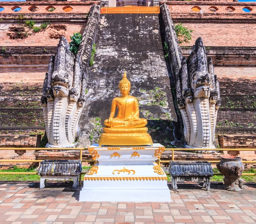
<instances>
[{"instance_id":1,"label":"left multi-headed stone naga, without the sloping balustrade behind it","mask_svg":"<svg viewBox=\"0 0 256 224\"><path fill-rule=\"evenodd\" d=\"M84 107L82 82L80 59L75 58L67 40L61 37L57 54L50 58L41 98L47 147L75 147Z\"/></svg>"}]
</instances>

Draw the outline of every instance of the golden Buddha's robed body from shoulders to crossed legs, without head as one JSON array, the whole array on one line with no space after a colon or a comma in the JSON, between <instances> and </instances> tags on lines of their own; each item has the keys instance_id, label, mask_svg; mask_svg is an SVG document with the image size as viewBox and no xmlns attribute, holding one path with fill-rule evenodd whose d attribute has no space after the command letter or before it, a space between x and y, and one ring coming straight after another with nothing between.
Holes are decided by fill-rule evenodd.
<instances>
[{"instance_id":1,"label":"golden Buddha's robed body from shoulders to crossed legs, without head","mask_svg":"<svg viewBox=\"0 0 256 224\"><path fill-rule=\"evenodd\" d=\"M111 113L115 113L118 107L118 113L113 118L113 124L108 123L108 119L104 121L104 125L108 128L141 128L147 125L147 120L139 117L139 105L134 96L127 95L125 97L116 97L112 101Z\"/></svg>"}]
</instances>

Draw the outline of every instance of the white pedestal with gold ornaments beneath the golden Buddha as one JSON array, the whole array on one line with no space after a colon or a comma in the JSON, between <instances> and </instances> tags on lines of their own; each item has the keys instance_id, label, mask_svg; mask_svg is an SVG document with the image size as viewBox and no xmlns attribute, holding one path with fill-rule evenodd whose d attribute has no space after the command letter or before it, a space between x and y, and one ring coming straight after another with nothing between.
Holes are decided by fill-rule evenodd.
<instances>
[{"instance_id":1,"label":"white pedestal with gold ornaments beneath the golden Buddha","mask_svg":"<svg viewBox=\"0 0 256 224\"><path fill-rule=\"evenodd\" d=\"M79 201L172 201L167 176L155 162L164 147L99 147L89 152L98 163L84 176Z\"/></svg>"}]
</instances>

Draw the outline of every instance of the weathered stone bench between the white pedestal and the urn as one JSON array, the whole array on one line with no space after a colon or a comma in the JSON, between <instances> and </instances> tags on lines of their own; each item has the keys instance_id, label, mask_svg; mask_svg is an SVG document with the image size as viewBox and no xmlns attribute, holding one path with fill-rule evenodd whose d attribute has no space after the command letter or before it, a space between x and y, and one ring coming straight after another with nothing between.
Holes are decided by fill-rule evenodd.
<instances>
[{"instance_id":1,"label":"weathered stone bench between the white pedestal and the urn","mask_svg":"<svg viewBox=\"0 0 256 224\"><path fill-rule=\"evenodd\" d=\"M203 187L210 190L210 177L213 176L210 162L171 161L169 173L172 176L173 190L177 190L177 181L204 181Z\"/></svg>"}]
</instances>

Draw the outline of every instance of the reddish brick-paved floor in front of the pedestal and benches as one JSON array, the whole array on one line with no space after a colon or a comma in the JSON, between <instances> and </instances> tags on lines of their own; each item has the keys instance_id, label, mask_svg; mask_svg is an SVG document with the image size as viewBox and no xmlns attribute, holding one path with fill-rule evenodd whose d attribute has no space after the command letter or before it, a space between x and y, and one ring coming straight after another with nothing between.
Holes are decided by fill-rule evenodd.
<instances>
[{"instance_id":1,"label":"reddish brick-paved floor in front of the pedestal and benches","mask_svg":"<svg viewBox=\"0 0 256 224\"><path fill-rule=\"evenodd\" d=\"M0 182L0 224L256 223L256 184L230 192L212 184L178 184L170 203L79 202L69 183Z\"/></svg>"}]
</instances>

